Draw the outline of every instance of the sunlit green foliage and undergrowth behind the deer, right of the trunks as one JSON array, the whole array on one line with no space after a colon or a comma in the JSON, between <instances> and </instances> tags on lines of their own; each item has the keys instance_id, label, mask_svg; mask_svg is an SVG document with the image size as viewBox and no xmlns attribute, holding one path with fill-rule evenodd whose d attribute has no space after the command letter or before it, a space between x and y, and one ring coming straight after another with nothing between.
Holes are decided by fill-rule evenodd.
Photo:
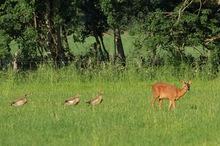
<instances>
[{"instance_id":1,"label":"sunlit green foliage and undergrowth behind the deer, right of the trunks","mask_svg":"<svg viewBox=\"0 0 220 146\"><path fill-rule=\"evenodd\" d=\"M216 54L214 48L219 47L219 40L211 43L205 40L219 35L217 6L204 4L204 7L198 10L197 2L186 8L180 2L177 2L176 6L174 4L176 2L171 3L169 3L170 6L166 6L164 1L150 2L155 7L150 9L151 12L148 13L146 20L140 25L137 24L132 30L133 35L139 36L134 42L135 56L144 56L142 58L147 60L145 62L148 66L165 64L177 68L182 63L204 62L204 58L208 58L206 61L212 60L208 50L213 50L211 54ZM158 5L163 6L158 8ZM196 47L201 45L202 47ZM200 57L196 58L194 53L187 53L187 47L196 48ZM204 49L206 53L203 53ZM192 50L192 52L195 51ZM209 70L213 75L218 72L217 66L220 61L218 55L214 58L215 61L212 63L206 62L207 66L215 66ZM199 68L201 69L201 66Z\"/></svg>"}]
</instances>

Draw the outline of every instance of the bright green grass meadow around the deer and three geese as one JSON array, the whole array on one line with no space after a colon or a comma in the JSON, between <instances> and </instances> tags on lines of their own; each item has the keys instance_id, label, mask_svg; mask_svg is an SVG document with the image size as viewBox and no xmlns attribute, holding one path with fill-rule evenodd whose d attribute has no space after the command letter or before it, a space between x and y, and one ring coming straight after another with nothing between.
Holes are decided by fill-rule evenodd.
<instances>
[{"instance_id":1,"label":"bright green grass meadow around the deer and three geese","mask_svg":"<svg viewBox=\"0 0 220 146\"><path fill-rule=\"evenodd\" d=\"M104 71L90 79L71 68L1 73L0 145L220 144L219 78L193 79L191 91L176 101L175 111L169 111L168 100L162 110L151 108L151 86L166 81L181 87L181 80L172 76L141 80L129 73L118 80L107 79ZM100 89L103 103L86 105ZM24 93L29 94L28 103L11 107L10 101ZM82 94L79 105L64 108L64 101L77 93Z\"/></svg>"}]
</instances>

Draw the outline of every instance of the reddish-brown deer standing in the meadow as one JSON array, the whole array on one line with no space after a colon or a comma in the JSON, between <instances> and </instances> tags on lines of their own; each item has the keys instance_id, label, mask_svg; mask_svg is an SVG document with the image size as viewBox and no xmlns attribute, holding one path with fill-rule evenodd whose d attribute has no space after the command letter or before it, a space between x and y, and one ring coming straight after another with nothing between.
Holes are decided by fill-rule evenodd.
<instances>
[{"instance_id":1,"label":"reddish-brown deer standing in the meadow","mask_svg":"<svg viewBox=\"0 0 220 146\"><path fill-rule=\"evenodd\" d=\"M158 82L152 86L152 91L154 94L153 100L152 100L152 108L154 108L154 103L159 98L159 103L158 106L161 109L161 105L163 102L163 99L169 99L169 107L168 109L173 106L173 108L176 108L175 101L179 100L182 96L185 95L187 91L190 91L190 85L192 81L189 81L188 83L185 81L182 81L183 88L179 89L176 86L163 83L163 82Z\"/></svg>"}]
</instances>

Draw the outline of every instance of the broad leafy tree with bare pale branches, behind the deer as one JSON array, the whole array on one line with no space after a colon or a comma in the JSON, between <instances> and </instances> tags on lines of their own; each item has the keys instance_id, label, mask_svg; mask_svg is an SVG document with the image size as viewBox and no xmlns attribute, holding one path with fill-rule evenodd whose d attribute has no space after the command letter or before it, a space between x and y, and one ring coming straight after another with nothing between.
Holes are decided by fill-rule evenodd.
<instances>
[{"instance_id":1,"label":"broad leafy tree with bare pale branches, behind the deer","mask_svg":"<svg viewBox=\"0 0 220 146\"><path fill-rule=\"evenodd\" d=\"M192 56L187 56L186 46L191 46L192 49L202 46L200 48L209 51L218 47L220 32L218 5L210 5L206 1L199 0L169 1L168 3L159 0L150 1L149 6L151 6L150 13L138 31L142 34L142 41L137 42L151 50L153 65L159 61L157 60L160 58L159 50L168 53L169 65L173 63L178 66L181 62L192 64L194 61ZM202 52L199 48L196 50L199 53ZM203 53L200 55L204 56ZM208 54L205 57L208 57Z\"/></svg>"}]
</instances>

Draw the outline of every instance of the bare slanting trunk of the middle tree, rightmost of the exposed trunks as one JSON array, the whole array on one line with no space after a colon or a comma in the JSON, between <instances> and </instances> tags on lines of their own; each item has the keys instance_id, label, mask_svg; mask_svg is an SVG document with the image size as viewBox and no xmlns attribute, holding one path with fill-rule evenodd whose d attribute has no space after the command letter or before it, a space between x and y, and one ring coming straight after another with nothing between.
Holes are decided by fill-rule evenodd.
<instances>
[{"instance_id":1,"label":"bare slanting trunk of the middle tree, rightmost of the exposed trunks","mask_svg":"<svg viewBox=\"0 0 220 146\"><path fill-rule=\"evenodd\" d=\"M126 66L126 57L125 57L125 53L124 53L124 48L123 48L123 44L122 44L122 40L121 40L121 34L120 34L119 27L115 27L115 29L114 29L114 41L115 41L115 46L117 48L121 64L123 66Z\"/></svg>"}]
</instances>

